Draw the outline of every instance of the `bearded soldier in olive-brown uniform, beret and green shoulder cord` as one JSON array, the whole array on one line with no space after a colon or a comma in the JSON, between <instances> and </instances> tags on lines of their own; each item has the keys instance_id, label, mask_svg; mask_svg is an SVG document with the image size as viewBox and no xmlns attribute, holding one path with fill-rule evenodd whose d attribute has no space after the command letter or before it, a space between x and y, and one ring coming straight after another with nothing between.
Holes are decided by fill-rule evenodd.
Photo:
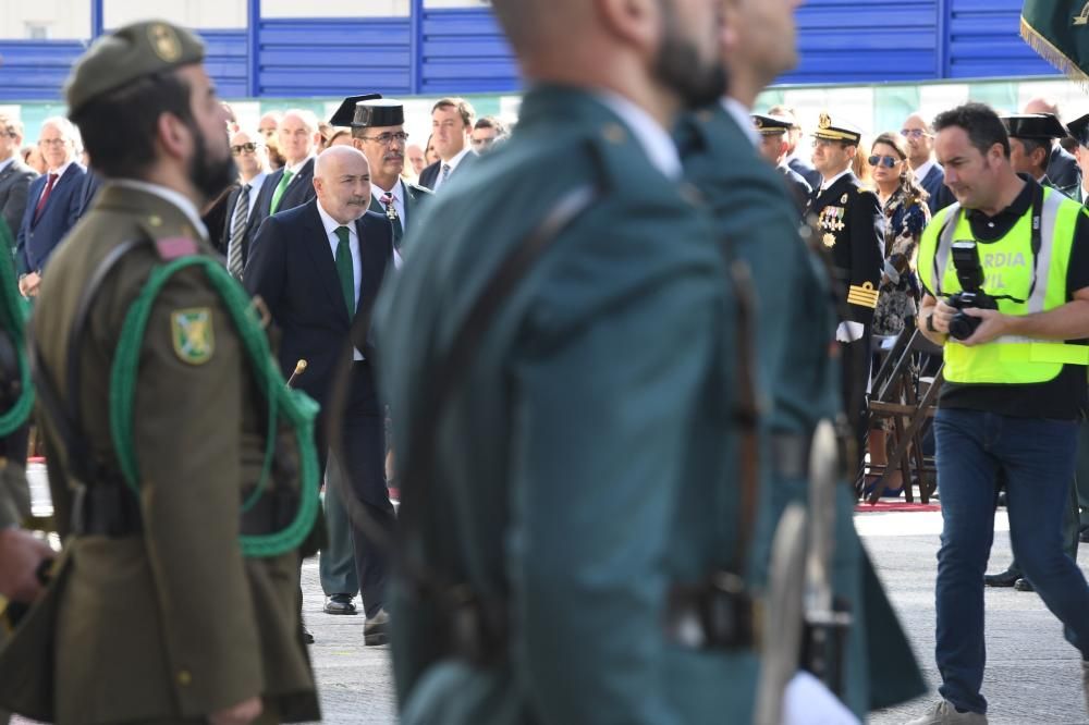
<instances>
[{"instance_id":1,"label":"bearded soldier in olive-brown uniform, beret and green shoulder cord","mask_svg":"<svg viewBox=\"0 0 1089 725\"><path fill-rule=\"evenodd\" d=\"M182 28L136 23L65 85L107 182L34 316L64 553L0 667L48 655L14 693L39 720L320 716L295 577L317 514L313 404L284 388L200 223L236 174L204 52Z\"/></svg>"}]
</instances>

